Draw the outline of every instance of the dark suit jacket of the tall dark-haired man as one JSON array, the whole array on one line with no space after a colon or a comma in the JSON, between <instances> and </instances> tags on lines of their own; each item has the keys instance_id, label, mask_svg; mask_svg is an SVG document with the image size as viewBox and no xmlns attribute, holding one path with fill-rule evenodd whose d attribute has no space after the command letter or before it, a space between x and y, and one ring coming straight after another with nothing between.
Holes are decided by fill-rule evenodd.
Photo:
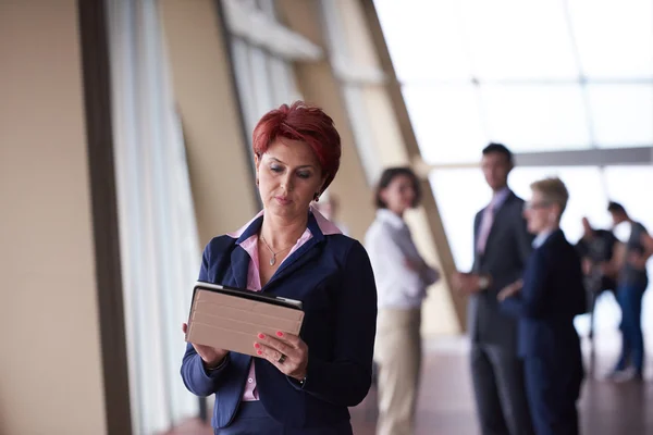
<instances>
[{"instance_id":1,"label":"dark suit jacket of the tall dark-haired man","mask_svg":"<svg viewBox=\"0 0 653 435\"><path fill-rule=\"evenodd\" d=\"M523 200L510 191L495 211L483 254L476 247L484 209L477 213L473 222L472 272L491 275L492 283L484 291L470 297L468 331L472 343L501 346L509 352L516 351L517 322L500 309L496 295L521 277L532 251L533 236L528 233L522 210Z\"/></svg>"}]
</instances>

